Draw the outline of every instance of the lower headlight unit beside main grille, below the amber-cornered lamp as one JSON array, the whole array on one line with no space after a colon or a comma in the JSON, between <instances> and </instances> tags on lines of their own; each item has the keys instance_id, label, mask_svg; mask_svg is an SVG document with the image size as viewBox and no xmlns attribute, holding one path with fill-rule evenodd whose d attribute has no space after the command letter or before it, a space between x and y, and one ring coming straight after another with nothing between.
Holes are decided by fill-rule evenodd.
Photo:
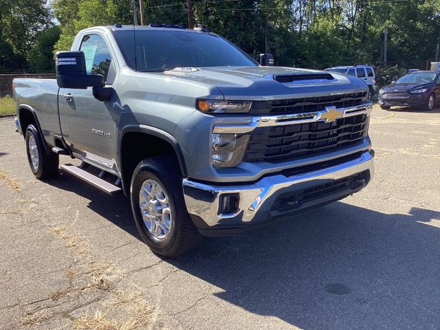
<instances>
[{"instance_id":1,"label":"lower headlight unit beside main grille, below the amber-cornered lamp","mask_svg":"<svg viewBox=\"0 0 440 330\"><path fill-rule=\"evenodd\" d=\"M212 165L234 167L241 163L249 135L212 134Z\"/></svg>"}]
</instances>

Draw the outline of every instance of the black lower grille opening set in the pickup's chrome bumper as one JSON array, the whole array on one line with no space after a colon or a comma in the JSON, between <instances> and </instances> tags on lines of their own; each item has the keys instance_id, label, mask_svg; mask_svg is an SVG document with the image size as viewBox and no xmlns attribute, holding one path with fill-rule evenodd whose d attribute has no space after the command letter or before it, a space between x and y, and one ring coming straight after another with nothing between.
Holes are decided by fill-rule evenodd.
<instances>
[{"instance_id":1,"label":"black lower grille opening set in the pickup's chrome bumper","mask_svg":"<svg viewBox=\"0 0 440 330\"><path fill-rule=\"evenodd\" d=\"M320 184L296 192L287 192L274 201L271 210L280 213L292 212L307 201L314 201L330 195L340 199L344 195L349 195L364 188L368 184L369 179L370 173L366 170L349 177L330 181L327 184Z\"/></svg>"}]
</instances>

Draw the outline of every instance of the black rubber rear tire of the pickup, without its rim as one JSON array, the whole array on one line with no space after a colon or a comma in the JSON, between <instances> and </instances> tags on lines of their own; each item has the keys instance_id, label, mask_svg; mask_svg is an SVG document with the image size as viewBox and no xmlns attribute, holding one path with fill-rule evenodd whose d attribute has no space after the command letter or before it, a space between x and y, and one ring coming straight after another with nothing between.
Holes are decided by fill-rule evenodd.
<instances>
[{"instance_id":1,"label":"black rubber rear tire of the pickup, without its rim","mask_svg":"<svg viewBox=\"0 0 440 330\"><path fill-rule=\"evenodd\" d=\"M30 151L30 138L33 137L36 151L38 152L38 162L33 166ZM47 153L43 138L34 124L30 124L25 133L26 153L28 154L28 162L32 173L37 179L49 179L58 174L59 157L56 153Z\"/></svg>"}]
</instances>

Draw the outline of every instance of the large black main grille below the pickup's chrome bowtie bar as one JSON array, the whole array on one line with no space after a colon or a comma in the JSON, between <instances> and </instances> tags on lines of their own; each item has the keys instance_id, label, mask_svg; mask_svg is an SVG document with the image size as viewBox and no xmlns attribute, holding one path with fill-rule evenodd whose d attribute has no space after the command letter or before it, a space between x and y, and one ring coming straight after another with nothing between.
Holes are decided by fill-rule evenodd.
<instances>
[{"instance_id":1,"label":"large black main grille below the pickup's chrome bowtie bar","mask_svg":"<svg viewBox=\"0 0 440 330\"><path fill-rule=\"evenodd\" d=\"M257 127L252 131L244 162L286 162L361 144L369 116L340 118L333 122L309 122Z\"/></svg>"}]
</instances>

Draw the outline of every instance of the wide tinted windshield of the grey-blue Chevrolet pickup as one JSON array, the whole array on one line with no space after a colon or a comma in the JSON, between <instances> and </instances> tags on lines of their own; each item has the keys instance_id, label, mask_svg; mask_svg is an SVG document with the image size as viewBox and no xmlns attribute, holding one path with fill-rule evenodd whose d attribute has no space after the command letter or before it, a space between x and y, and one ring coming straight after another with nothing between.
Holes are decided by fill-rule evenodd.
<instances>
[{"instance_id":1,"label":"wide tinted windshield of the grey-blue Chevrolet pickup","mask_svg":"<svg viewBox=\"0 0 440 330\"><path fill-rule=\"evenodd\" d=\"M161 72L175 67L258 65L248 54L214 34L136 30L135 41L133 31L115 31L113 34L126 63L140 72Z\"/></svg>"}]
</instances>

